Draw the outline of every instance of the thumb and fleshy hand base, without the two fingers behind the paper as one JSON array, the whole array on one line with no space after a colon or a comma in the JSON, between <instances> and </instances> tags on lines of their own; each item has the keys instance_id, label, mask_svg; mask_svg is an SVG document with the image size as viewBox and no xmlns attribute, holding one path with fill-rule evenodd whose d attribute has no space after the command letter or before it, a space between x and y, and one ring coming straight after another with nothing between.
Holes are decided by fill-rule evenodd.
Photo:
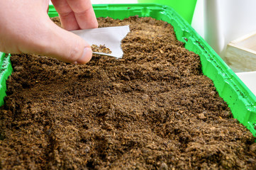
<instances>
[{"instance_id":1,"label":"thumb and fleshy hand base, without the two fingers behind the paper","mask_svg":"<svg viewBox=\"0 0 256 170\"><path fill-rule=\"evenodd\" d=\"M53 23L45 12L48 0L0 0L0 50L8 53L34 53L64 62L85 64L91 47L82 38Z\"/></svg>"}]
</instances>

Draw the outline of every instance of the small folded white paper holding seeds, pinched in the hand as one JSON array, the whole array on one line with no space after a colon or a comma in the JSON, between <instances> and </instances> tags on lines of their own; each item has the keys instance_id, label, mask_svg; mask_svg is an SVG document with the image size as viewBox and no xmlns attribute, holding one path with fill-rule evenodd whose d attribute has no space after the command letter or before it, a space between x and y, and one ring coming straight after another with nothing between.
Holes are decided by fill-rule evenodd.
<instances>
[{"instance_id":1,"label":"small folded white paper holding seeds, pinched in the hand","mask_svg":"<svg viewBox=\"0 0 256 170\"><path fill-rule=\"evenodd\" d=\"M111 50L111 54L94 52L95 54L121 58L123 57L121 40L123 40L123 38L130 32L130 28L129 26L117 26L87 30L72 30L71 32L86 40L89 45L105 45Z\"/></svg>"}]
</instances>

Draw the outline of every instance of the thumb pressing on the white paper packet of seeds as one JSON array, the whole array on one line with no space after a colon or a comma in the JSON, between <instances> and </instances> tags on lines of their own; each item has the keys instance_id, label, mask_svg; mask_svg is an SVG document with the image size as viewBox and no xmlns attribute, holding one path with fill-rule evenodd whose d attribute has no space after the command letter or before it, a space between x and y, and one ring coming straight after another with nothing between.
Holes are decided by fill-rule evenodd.
<instances>
[{"instance_id":1,"label":"thumb pressing on the white paper packet of seeds","mask_svg":"<svg viewBox=\"0 0 256 170\"><path fill-rule=\"evenodd\" d=\"M91 46L78 35L56 26L52 21L44 43L46 48L39 52L41 55L74 64L85 64L91 60Z\"/></svg>"}]
</instances>

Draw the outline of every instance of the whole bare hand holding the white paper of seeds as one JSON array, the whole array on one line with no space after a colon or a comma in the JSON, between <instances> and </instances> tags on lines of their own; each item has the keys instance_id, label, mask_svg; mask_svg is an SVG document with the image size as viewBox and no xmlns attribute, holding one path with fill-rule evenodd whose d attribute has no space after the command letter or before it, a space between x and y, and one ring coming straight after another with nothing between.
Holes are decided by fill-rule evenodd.
<instances>
[{"instance_id":1,"label":"whole bare hand holding the white paper of seeds","mask_svg":"<svg viewBox=\"0 0 256 170\"><path fill-rule=\"evenodd\" d=\"M85 64L90 45L68 30L97 28L90 0L52 0L64 29L48 16L49 0L0 0L0 51L34 53Z\"/></svg>"}]
</instances>

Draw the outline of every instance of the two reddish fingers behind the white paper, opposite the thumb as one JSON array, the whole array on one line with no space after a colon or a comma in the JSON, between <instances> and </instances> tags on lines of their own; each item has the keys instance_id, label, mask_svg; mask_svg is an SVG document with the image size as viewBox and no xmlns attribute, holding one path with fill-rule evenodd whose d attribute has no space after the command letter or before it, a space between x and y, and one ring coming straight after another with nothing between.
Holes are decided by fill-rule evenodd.
<instances>
[{"instance_id":1,"label":"two reddish fingers behind the white paper, opposite the thumb","mask_svg":"<svg viewBox=\"0 0 256 170\"><path fill-rule=\"evenodd\" d=\"M90 0L52 0L66 30L98 28Z\"/></svg>"}]
</instances>

